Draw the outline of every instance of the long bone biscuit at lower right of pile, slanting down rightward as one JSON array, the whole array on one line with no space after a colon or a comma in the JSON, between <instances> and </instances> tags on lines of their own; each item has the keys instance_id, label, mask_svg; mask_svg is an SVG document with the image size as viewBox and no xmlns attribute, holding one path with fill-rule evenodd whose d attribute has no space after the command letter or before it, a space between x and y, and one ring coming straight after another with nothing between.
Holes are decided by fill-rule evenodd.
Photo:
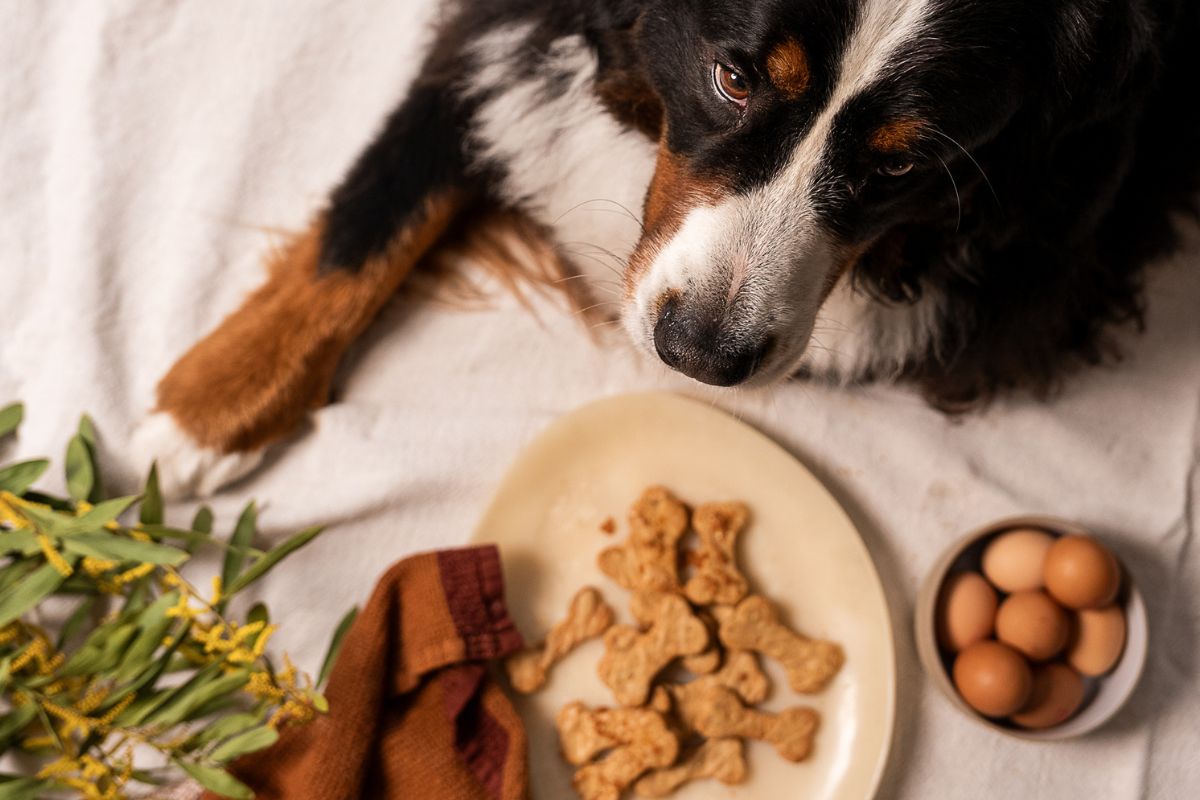
<instances>
[{"instance_id":1,"label":"long bone biscuit at lower right of pile, slanting down rightward","mask_svg":"<svg viewBox=\"0 0 1200 800\"><path fill-rule=\"evenodd\" d=\"M692 681L674 687L672 693L676 714L702 736L766 741L790 762L804 760L812 751L812 738L820 723L812 709L796 706L781 714L767 714L746 708L732 688L712 682Z\"/></svg>"}]
</instances>

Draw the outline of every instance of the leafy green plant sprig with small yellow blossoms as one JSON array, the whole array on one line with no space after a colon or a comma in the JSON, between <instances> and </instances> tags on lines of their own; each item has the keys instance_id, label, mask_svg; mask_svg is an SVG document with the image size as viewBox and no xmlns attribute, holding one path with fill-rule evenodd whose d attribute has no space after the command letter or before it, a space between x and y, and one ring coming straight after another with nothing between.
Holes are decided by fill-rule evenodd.
<instances>
[{"instance_id":1,"label":"leafy green plant sprig with small yellow blossoms","mask_svg":"<svg viewBox=\"0 0 1200 800\"><path fill-rule=\"evenodd\" d=\"M23 416L19 404L0 409L0 437ZM226 765L328 705L286 654L282 669L266 657L277 626L265 606L239 620L229 600L322 529L257 549L253 503L226 540L214 536L208 507L187 529L168 527L154 468L140 495L104 499L86 416L67 445L68 497L31 488L48 467L0 468L0 756L35 764L31 775L0 775L0 800L121 800L170 770L252 798ZM202 547L224 551L209 593L179 570ZM55 631L35 621L52 600L72 606ZM352 619L338 626L320 681ZM148 750L167 774L138 763Z\"/></svg>"}]
</instances>

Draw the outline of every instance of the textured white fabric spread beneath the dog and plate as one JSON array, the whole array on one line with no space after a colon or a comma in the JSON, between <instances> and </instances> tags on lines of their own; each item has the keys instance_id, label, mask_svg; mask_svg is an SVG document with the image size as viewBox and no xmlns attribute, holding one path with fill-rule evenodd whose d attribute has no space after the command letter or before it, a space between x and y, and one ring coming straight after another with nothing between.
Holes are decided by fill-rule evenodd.
<instances>
[{"instance_id":1,"label":"textured white fabric spread beneath the dog and plate","mask_svg":"<svg viewBox=\"0 0 1200 800\"><path fill-rule=\"evenodd\" d=\"M112 482L134 488L125 445L155 381L259 281L268 230L301 227L365 144L416 68L431 14L427 0L0 5L0 401L29 404L5 457L60 458L88 410ZM617 336L593 341L551 301L536 318L506 297L481 312L395 302L313 429L214 505L228 528L260 499L275 540L336 527L259 593L283 622L276 645L316 669L337 618L388 564L466 540L542 426L598 397L678 389L787 446L870 546L900 664L883 796L1200 796L1200 237L1190 243L1153 272L1150 330L1123 336L1123 362L1054 403L1009 399L964 420L895 387L701 390ZM910 633L938 552L1032 511L1111 536L1153 627L1134 700L1066 744L964 720L925 680Z\"/></svg>"}]
</instances>

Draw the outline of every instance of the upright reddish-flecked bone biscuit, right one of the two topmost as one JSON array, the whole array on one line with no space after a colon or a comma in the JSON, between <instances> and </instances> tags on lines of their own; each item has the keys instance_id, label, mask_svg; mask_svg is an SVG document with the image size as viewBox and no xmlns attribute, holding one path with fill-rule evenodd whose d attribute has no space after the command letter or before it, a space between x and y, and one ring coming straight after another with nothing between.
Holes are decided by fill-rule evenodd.
<instances>
[{"instance_id":1,"label":"upright reddish-flecked bone biscuit, right one of the two topmost","mask_svg":"<svg viewBox=\"0 0 1200 800\"><path fill-rule=\"evenodd\" d=\"M695 573L684 587L697 606L733 606L746 596L748 583L738 570L734 549L750 516L744 503L708 503L691 516L700 547L689 554Z\"/></svg>"}]
</instances>

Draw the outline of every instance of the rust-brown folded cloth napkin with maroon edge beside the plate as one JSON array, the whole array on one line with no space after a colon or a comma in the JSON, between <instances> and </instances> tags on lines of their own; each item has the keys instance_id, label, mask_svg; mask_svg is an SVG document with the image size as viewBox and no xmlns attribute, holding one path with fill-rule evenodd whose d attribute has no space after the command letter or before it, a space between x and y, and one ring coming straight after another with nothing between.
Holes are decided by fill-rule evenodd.
<instances>
[{"instance_id":1,"label":"rust-brown folded cloth napkin with maroon edge beside the plate","mask_svg":"<svg viewBox=\"0 0 1200 800\"><path fill-rule=\"evenodd\" d=\"M521 646L493 546L404 559L343 639L329 714L230 771L258 800L523 800L524 728L486 667Z\"/></svg>"}]
</instances>

